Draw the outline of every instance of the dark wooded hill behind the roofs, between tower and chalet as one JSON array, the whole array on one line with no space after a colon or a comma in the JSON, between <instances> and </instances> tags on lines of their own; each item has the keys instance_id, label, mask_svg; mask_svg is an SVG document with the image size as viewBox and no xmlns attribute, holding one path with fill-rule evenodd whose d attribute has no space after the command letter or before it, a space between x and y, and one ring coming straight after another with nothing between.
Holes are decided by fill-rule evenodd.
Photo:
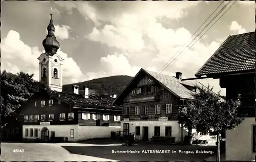
<instances>
[{"instance_id":1,"label":"dark wooded hill behind the roofs, between tower and chalet","mask_svg":"<svg viewBox=\"0 0 256 162\"><path fill-rule=\"evenodd\" d=\"M120 94L123 88L133 79L131 76L111 76L89 81L66 84L62 86L65 92L72 92L72 85L79 86L79 94L83 94L83 85L89 88L90 94Z\"/></svg>"}]
</instances>

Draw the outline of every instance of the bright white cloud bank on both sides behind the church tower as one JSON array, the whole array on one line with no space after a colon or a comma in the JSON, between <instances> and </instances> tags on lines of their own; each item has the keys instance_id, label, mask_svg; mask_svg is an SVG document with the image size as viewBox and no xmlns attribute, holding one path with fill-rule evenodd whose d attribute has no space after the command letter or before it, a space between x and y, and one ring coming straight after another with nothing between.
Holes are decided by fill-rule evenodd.
<instances>
[{"instance_id":1,"label":"bright white cloud bank on both sides behind the church tower","mask_svg":"<svg viewBox=\"0 0 256 162\"><path fill-rule=\"evenodd\" d=\"M38 57L43 51L39 51L37 47L29 47L22 40L16 31L9 31L6 38L1 42L1 63L2 69L11 73L23 71L25 73L34 74L34 79L39 79ZM86 80L86 76L82 74L77 63L71 57L67 57L66 53L58 50L58 54L67 58L63 62L63 84L79 82Z\"/></svg>"}]
</instances>

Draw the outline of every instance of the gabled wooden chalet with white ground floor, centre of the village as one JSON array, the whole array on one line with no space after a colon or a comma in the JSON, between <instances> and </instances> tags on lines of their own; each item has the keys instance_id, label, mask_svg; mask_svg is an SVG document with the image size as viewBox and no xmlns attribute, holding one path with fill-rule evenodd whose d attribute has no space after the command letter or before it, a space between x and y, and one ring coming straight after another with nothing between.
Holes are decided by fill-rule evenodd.
<instances>
[{"instance_id":1,"label":"gabled wooden chalet with white ground floor, centre of the village","mask_svg":"<svg viewBox=\"0 0 256 162\"><path fill-rule=\"evenodd\" d=\"M193 99L195 84L176 77L141 69L123 89L113 104L122 105L121 130L135 132L136 140L148 141L153 136L172 136L182 141L188 134L178 124L178 108Z\"/></svg>"}]
</instances>

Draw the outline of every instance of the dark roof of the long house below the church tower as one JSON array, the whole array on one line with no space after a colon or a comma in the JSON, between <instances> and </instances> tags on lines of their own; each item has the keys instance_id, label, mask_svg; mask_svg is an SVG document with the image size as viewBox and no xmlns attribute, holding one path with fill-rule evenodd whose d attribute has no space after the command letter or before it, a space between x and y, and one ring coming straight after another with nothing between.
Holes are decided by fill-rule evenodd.
<instances>
[{"instance_id":1,"label":"dark roof of the long house below the church tower","mask_svg":"<svg viewBox=\"0 0 256 162\"><path fill-rule=\"evenodd\" d=\"M47 93L51 97L59 99L62 102L66 102L73 107L121 110L121 106L112 104L114 98L110 95L89 95L89 98L85 99L82 95L66 92L47 90Z\"/></svg>"}]
</instances>

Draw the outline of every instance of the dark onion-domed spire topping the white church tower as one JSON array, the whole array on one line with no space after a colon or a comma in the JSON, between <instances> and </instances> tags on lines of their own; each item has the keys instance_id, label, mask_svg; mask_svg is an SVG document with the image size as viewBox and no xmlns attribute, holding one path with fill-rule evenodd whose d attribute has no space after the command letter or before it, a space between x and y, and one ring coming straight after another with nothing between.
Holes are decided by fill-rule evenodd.
<instances>
[{"instance_id":1,"label":"dark onion-domed spire topping the white church tower","mask_svg":"<svg viewBox=\"0 0 256 162\"><path fill-rule=\"evenodd\" d=\"M55 28L53 25L52 13L50 15L51 15L51 19L47 27L48 34L46 38L42 41L42 45L44 46L46 53L50 56L53 56L54 54L56 54L57 50L59 49L59 42L57 41L54 35Z\"/></svg>"}]
</instances>

